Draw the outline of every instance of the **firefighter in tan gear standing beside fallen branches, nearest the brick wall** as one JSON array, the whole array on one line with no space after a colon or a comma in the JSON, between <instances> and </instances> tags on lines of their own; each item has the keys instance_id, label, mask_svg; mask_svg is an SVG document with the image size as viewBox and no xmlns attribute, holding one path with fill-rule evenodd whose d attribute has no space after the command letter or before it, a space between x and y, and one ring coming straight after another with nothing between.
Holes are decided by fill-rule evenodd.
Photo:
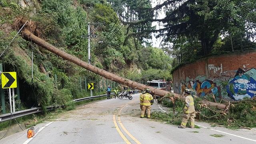
<instances>
[{"instance_id":1,"label":"firefighter in tan gear standing beside fallen branches, nearest the brick wall","mask_svg":"<svg viewBox=\"0 0 256 144\"><path fill-rule=\"evenodd\" d=\"M184 90L184 96L186 96L185 107L183 109L184 114L182 117L182 122L178 128L186 128L188 119L190 120L190 128L194 128L196 112L195 112L195 107L194 107L194 99L191 96L191 90L186 88Z\"/></svg>"}]
</instances>

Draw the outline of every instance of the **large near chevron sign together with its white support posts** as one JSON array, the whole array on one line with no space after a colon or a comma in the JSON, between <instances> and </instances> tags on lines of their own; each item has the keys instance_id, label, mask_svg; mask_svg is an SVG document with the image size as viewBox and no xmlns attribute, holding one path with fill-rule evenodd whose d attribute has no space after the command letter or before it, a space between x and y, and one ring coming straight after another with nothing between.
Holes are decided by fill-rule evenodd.
<instances>
[{"instance_id":1,"label":"large near chevron sign together with its white support posts","mask_svg":"<svg viewBox=\"0 0 256 144\"><path fill-rule=\"evenodd\" d=\"M17 88L17 74L16 72L2 72L1 74L2 88L8 88L10 111L15 112L15 98L14 88ZM12 93L11 93L12 88Z\"/></svg>"}]
</instances>

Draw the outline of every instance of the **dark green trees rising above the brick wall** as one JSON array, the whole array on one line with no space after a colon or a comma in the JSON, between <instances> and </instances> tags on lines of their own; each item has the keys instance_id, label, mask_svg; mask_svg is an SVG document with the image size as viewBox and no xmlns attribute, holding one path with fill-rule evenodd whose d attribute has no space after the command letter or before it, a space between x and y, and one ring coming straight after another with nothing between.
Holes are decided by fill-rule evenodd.
<instances>
[{"instance_id":1,"label":"dark green trees rising above the brick wall","mask_svg":"<svg viewBox=\"0 0 256 144\"><path fill-rule=\"evenodd\" d=\"M256 48L255 7L255 0L166 0L146 8L156 18L148 16L130 24L162 22L159 30L146 28L133 35L159 32L163 50L175 56L172 65L178 66L209 55ZM161 9L166 9L165 18L158 18Z\"/></svg>"}]
</instances>

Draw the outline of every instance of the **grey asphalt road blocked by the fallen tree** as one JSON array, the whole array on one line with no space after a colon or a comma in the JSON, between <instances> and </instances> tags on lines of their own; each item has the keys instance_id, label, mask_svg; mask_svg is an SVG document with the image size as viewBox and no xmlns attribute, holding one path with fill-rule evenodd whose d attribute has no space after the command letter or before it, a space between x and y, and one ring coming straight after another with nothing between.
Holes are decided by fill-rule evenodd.
<instances>
[{"instance_id":1,"label":"grey asphalt road blocked by the fallen tree","mask_svg":"<svg viewBox=\"0 0 256 144\"><path fill-rule=\"evenodd\" d=\"M152 111L167 110L154 104ZM139 116L138 94L132 100L97 101L36 125L40 130L33 138L27 139L24 130L3 138L0 144L256 144L256 129L229 130L202 122L196 123L201 128L180 129Z\"/></svg>"}]
</instances>

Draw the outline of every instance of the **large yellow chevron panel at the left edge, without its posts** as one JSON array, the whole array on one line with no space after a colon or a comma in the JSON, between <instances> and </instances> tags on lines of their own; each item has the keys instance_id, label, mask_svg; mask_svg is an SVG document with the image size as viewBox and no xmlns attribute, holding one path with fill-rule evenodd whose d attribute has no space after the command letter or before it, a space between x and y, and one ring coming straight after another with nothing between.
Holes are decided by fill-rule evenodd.
<instances>
[{"instance_id":1,"label":"large yellow chevron panel at the left edge, without its posts","mask_svg":"<svg viewBox=\"0 0 256 144\"><path fill-rule=\"evenodd\" d=\"M2 72L2 88L17 88L16 72Z\"/></svg>"}]
</instances>

